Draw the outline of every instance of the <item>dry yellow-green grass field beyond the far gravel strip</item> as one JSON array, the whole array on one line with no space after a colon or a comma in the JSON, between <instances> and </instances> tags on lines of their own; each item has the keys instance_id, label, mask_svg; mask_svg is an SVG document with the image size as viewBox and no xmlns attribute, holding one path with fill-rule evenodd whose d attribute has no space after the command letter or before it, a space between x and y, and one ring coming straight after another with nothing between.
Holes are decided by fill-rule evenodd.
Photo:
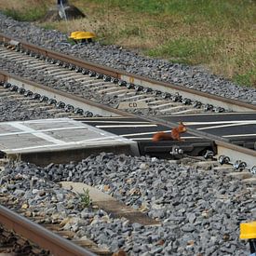
<instances>
[{"instance_id":1,"label":"dry yellow-green grass field beyond the far gravel strip","mask_svg":"<svg viewBox=\"0 0 256 256\"><path fill-rule=\"evenodd\" d=\"M162 1L166 9L155 13L157 1L154 0L145 2L147 9L143 10L136 9L137 3L143 0L131 1L133 6L111 0L74 0L70 3L80 8L87 19L42 25L67 34L76 30L92 31L103 44L140 49L155 58L203 64L215 74L256 87L256 16L251 14L253 10L256 12L256 3L251 2L251 7L246 7L238 0L216 1L208 0L211 5L217 3L219 9L206 5L203 11L194 0ZM15 0L0 2L1 7L19 10L40 6L42 2L56 4L50 0L24 0L22 4ZM153 3L152 9L150 3ZM173 4L171 8L169 3Z\"/></svg>"}]
</instances>

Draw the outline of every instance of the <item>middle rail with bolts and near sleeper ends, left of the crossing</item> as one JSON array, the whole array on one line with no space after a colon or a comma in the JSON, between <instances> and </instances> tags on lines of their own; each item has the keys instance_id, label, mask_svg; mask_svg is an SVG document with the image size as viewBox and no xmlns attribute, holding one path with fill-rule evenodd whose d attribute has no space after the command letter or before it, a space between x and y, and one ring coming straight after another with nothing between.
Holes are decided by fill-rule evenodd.
<instances>
[{"instance_id":1,"label":"middle rail with bolts and near sleeper ends, left of the crossing","mask_svg":"<svg viewBox=\"0 0 256 256\"><path fill-rule=\"evenodd\" d=\"M22 105L26 104L31 110L45 110L49 115L56 117L126 115L119 110L108 106L102 108L102 105L97 102L88 101L58 89L41 86L16 75L0 72L0 79L1 96L12 101L20 101Z\"/></svg>"}]
</instances>

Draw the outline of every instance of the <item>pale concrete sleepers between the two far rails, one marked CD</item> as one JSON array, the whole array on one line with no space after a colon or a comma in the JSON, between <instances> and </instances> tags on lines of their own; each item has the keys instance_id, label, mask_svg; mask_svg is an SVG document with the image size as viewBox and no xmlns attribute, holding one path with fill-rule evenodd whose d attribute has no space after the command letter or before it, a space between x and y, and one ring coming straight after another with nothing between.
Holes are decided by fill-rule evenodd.
<instances>
[{"instance_id":1,"label":"pale concrete sleepers between the two far rails, one marked CD","mask_svg":"<svg viewBox=\"0 0 256 256\"><path fill-rule=\"evenodd\" d=\"M105 77L102 74L93 74L85 72L81 68L74 68L69 70L63 67L61 62L34 60L32 57L20 57L19 53L12 53L9 50L2 50L2 58L5 61L15 61L17 64L22 64L28 70L37 70L38 73L44 74L45 77L50 76L57 78L59 85L56 88L65 89L69 92L75 90L75 94L87 98L91 101L105 101L106 104L114 108L123 108L130 112L140 114L145 113L149 115L165 115L165 114L182 114L182 113L202 113L208 106L203 106L200 102L192 102L189 100L181 102L181 96L176 94L172 100L170 95L165 94L163 96L157 96L159 91L153 91L150 88L142 91L141 87L135 87L135 85L125 85L124 81L118 81L116 78ZM39 57L40 58L40 57ZM56 67L56 64L59 65ZM69 67L68 67L69 68ZM76 71L75 71L76 70ZM77 73L80 71L79 73ZM83 72L84 74L81 74ZM111 80L113 82L111 82ZM72 82L71 89L63 88L65 83ZM75 89L74 89L75 88ZM168 99L169 98L169 99ZM179 102L180 101L180 102ZM127 103L126 103L127 102ZM132 102L132 104L130 104ZM136 106L128 108L130 105ZM210 106L209 106L210 108ZM147 112L147 109L150 109ZM223 111L220 108L220 111Z\"/></svg>"}]
</instances>

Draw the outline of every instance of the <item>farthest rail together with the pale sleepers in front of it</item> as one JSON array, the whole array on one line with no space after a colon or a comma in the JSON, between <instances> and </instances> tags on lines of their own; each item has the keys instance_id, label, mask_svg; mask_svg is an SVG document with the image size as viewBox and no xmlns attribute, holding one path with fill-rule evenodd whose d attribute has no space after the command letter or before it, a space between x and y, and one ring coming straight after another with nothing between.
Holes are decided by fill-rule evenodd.
<instances>
[{"instance_id":1,"label":"farthest rail together with the pale sleepers in front of it","mask_svg":"<svg viewBox=\"0 0 256 256\"><path fill-rule=\"evenodd\" d=\"M0 34L0 41L6 46L1 48L2 58L5 61L20 63L44 75L54 75L59 81L57 83L55 80L55 87L59 89L67 90L64 84L70 81L72 82L70 92L76 91L73 93L80 96L84 94L94 101L97 101L98 95L98 98L103 98L104 103L111 107L119 106L126 109L126 104L120 106L121 102L133 101L137 105L138 102L143 102L142 110L138 106L132 108L134 114L143 114L144 108L150 109L149 112L144 112L144 115L256 110L256 106L245 102L225 99L89 63L46 48L15 41L4 34Z\"/></svg>"}]
</instances>

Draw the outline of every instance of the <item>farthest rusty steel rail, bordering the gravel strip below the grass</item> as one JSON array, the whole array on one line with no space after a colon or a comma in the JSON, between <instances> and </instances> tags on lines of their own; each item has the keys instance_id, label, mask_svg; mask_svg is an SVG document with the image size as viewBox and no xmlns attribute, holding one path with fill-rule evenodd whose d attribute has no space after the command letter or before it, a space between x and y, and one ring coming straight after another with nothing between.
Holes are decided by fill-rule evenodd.
<instances>
[{"instance_id":1,"label":"farthest rusty steel rail, bordering the gravel strip below the grass","mask_svg":"<svg viewBox=\"0 0 256 256\"><path fill-rule=\"evenodd\" d=\"M0 34L1 42L10 43L11 41L14 41L14 40L16 39L11 38L10 36L7 36L5 34ZM16 41L16 42L17 42L16 44L19 43L21 47L31 50L36 54L41 54L51 59L72 63L75 66L92 70L96 73L110 75L112 77L127 81L128 83L133 83L136 85L140 85L142 87L152 88L155 90L161 90L163 92L168 92L172 94L179 93L184 98L189 98L193 101L201 101L204 104L212 104L218 107L223 107L230 111L236 111L236 112L255 112L256 111L256 105L252 105L243 101L227 99L221 96L208 94L206 92L202 92L192 88L185 88L182 86L172 85L167 82L156 81L154 79L143 77L138 74L129 74L125 71L117 70L111 67L106 67L93 62L84 61L74 56L64 55L47 48L37 47L35 45L29 44L22 40Z\"/></svg>"}]
</instances>

